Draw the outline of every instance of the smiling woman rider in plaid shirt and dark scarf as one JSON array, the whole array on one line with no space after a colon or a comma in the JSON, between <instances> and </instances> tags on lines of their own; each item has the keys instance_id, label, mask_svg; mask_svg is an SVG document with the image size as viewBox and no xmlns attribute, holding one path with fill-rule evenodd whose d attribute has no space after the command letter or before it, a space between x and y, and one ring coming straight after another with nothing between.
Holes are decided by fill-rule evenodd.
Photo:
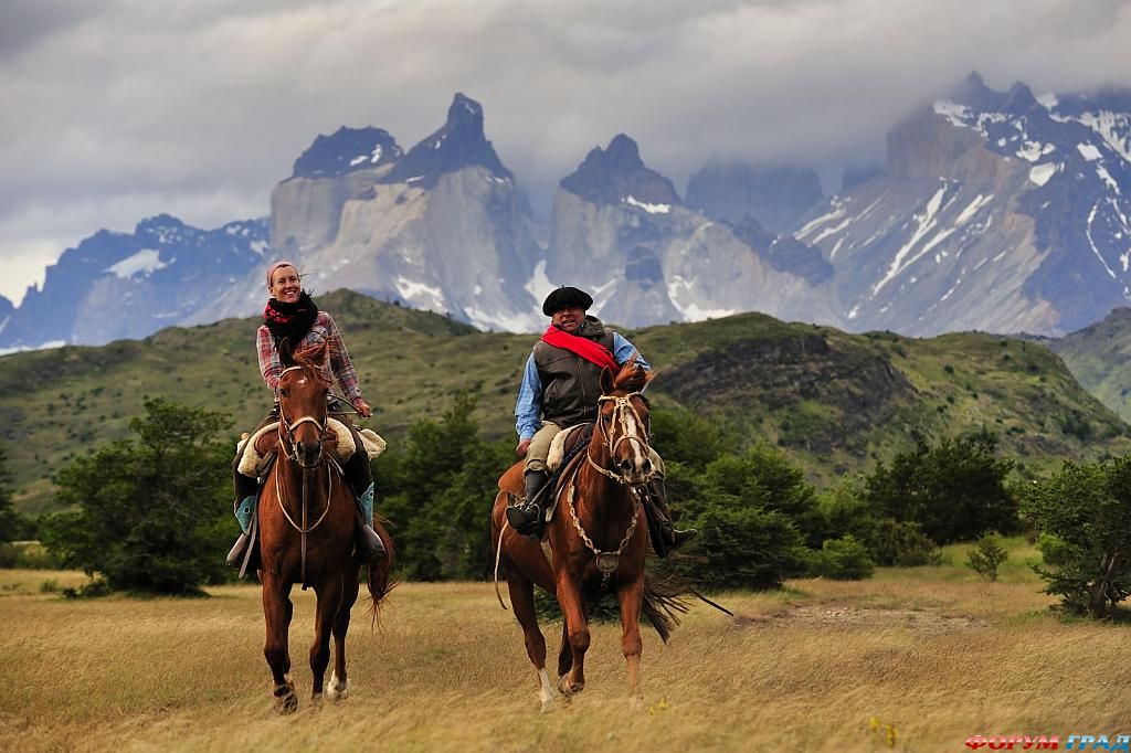
<instances>
[{"instance_id":1,"label":"smiling woman rider in plaid shirt and dark scarf","mask_svg":"<svg viewBox=\"0 0 1131 753\"><path fill-rule=\"evenodd\" d=\"M275 395L275 407L270 415L265 418L257 431L268 423L278 421L278 383L283 373L283 362L279 358L279 348L287 353L297 353L307 348L318 348L322 343L328 343L326 349L326 361L321 364L323 375L330 383L337 379L342 386L346 399L363 418L369 418L372 408L361 396L361 386L357 380L357 371L349 361L345 343L342 341L342 334L338 331L334 319L325 311L319 311L318 305L304 289L302 289L302 278L299 269L291 261L276 261L267 269L267 289L270 298L264 309L264 323L256 335L257 352L259 354L259 371L264 376L267 389ZM333 375L333 379L331 379ZM333 403L333 398L331 398ZM369 456L362 449L362 443L357 436L356 429L345 416L330 408L331 413L339 421L343 421L354 434L354 442L357 450L345 464L346 481L353 488L357 499L373 493L373 470L369 465ZM238 453L234 464L235 477L235 504L254 501L258 493L258 483L254 477L244 476L239 471L240 458ZM357 540L355 546L362 561L368 562L373 557L385 554L385 545L380 537L373 531L369 520L362 514L359 504ZM227 564L239 568L243 560L244 552L249 544L247 534L241 534L235 546L227 555Z\"/></svg>"}]
</instances>

